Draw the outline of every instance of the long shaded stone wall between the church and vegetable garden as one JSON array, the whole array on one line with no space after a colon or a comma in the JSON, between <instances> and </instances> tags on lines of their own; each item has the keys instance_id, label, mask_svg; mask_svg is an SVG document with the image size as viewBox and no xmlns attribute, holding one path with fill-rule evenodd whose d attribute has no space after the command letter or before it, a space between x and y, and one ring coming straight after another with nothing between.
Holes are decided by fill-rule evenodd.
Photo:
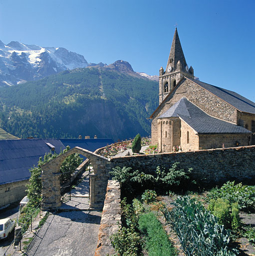
<instances>
[{"instance_id":1,"label":"long shaded stone wall between the church and vegetable garden","mask_svg":"<svg viewBox=\"0 0 255 256\"><path fill-rule=\"evenodd\" d=\"M255 176L255 146L137 155L112 158L116 166L130 166L146 172L158 165L172 166L180 162L184 169L193 168L194 179L218 183L228 179L243 180Z\"/></svg>"}]
</instances>

